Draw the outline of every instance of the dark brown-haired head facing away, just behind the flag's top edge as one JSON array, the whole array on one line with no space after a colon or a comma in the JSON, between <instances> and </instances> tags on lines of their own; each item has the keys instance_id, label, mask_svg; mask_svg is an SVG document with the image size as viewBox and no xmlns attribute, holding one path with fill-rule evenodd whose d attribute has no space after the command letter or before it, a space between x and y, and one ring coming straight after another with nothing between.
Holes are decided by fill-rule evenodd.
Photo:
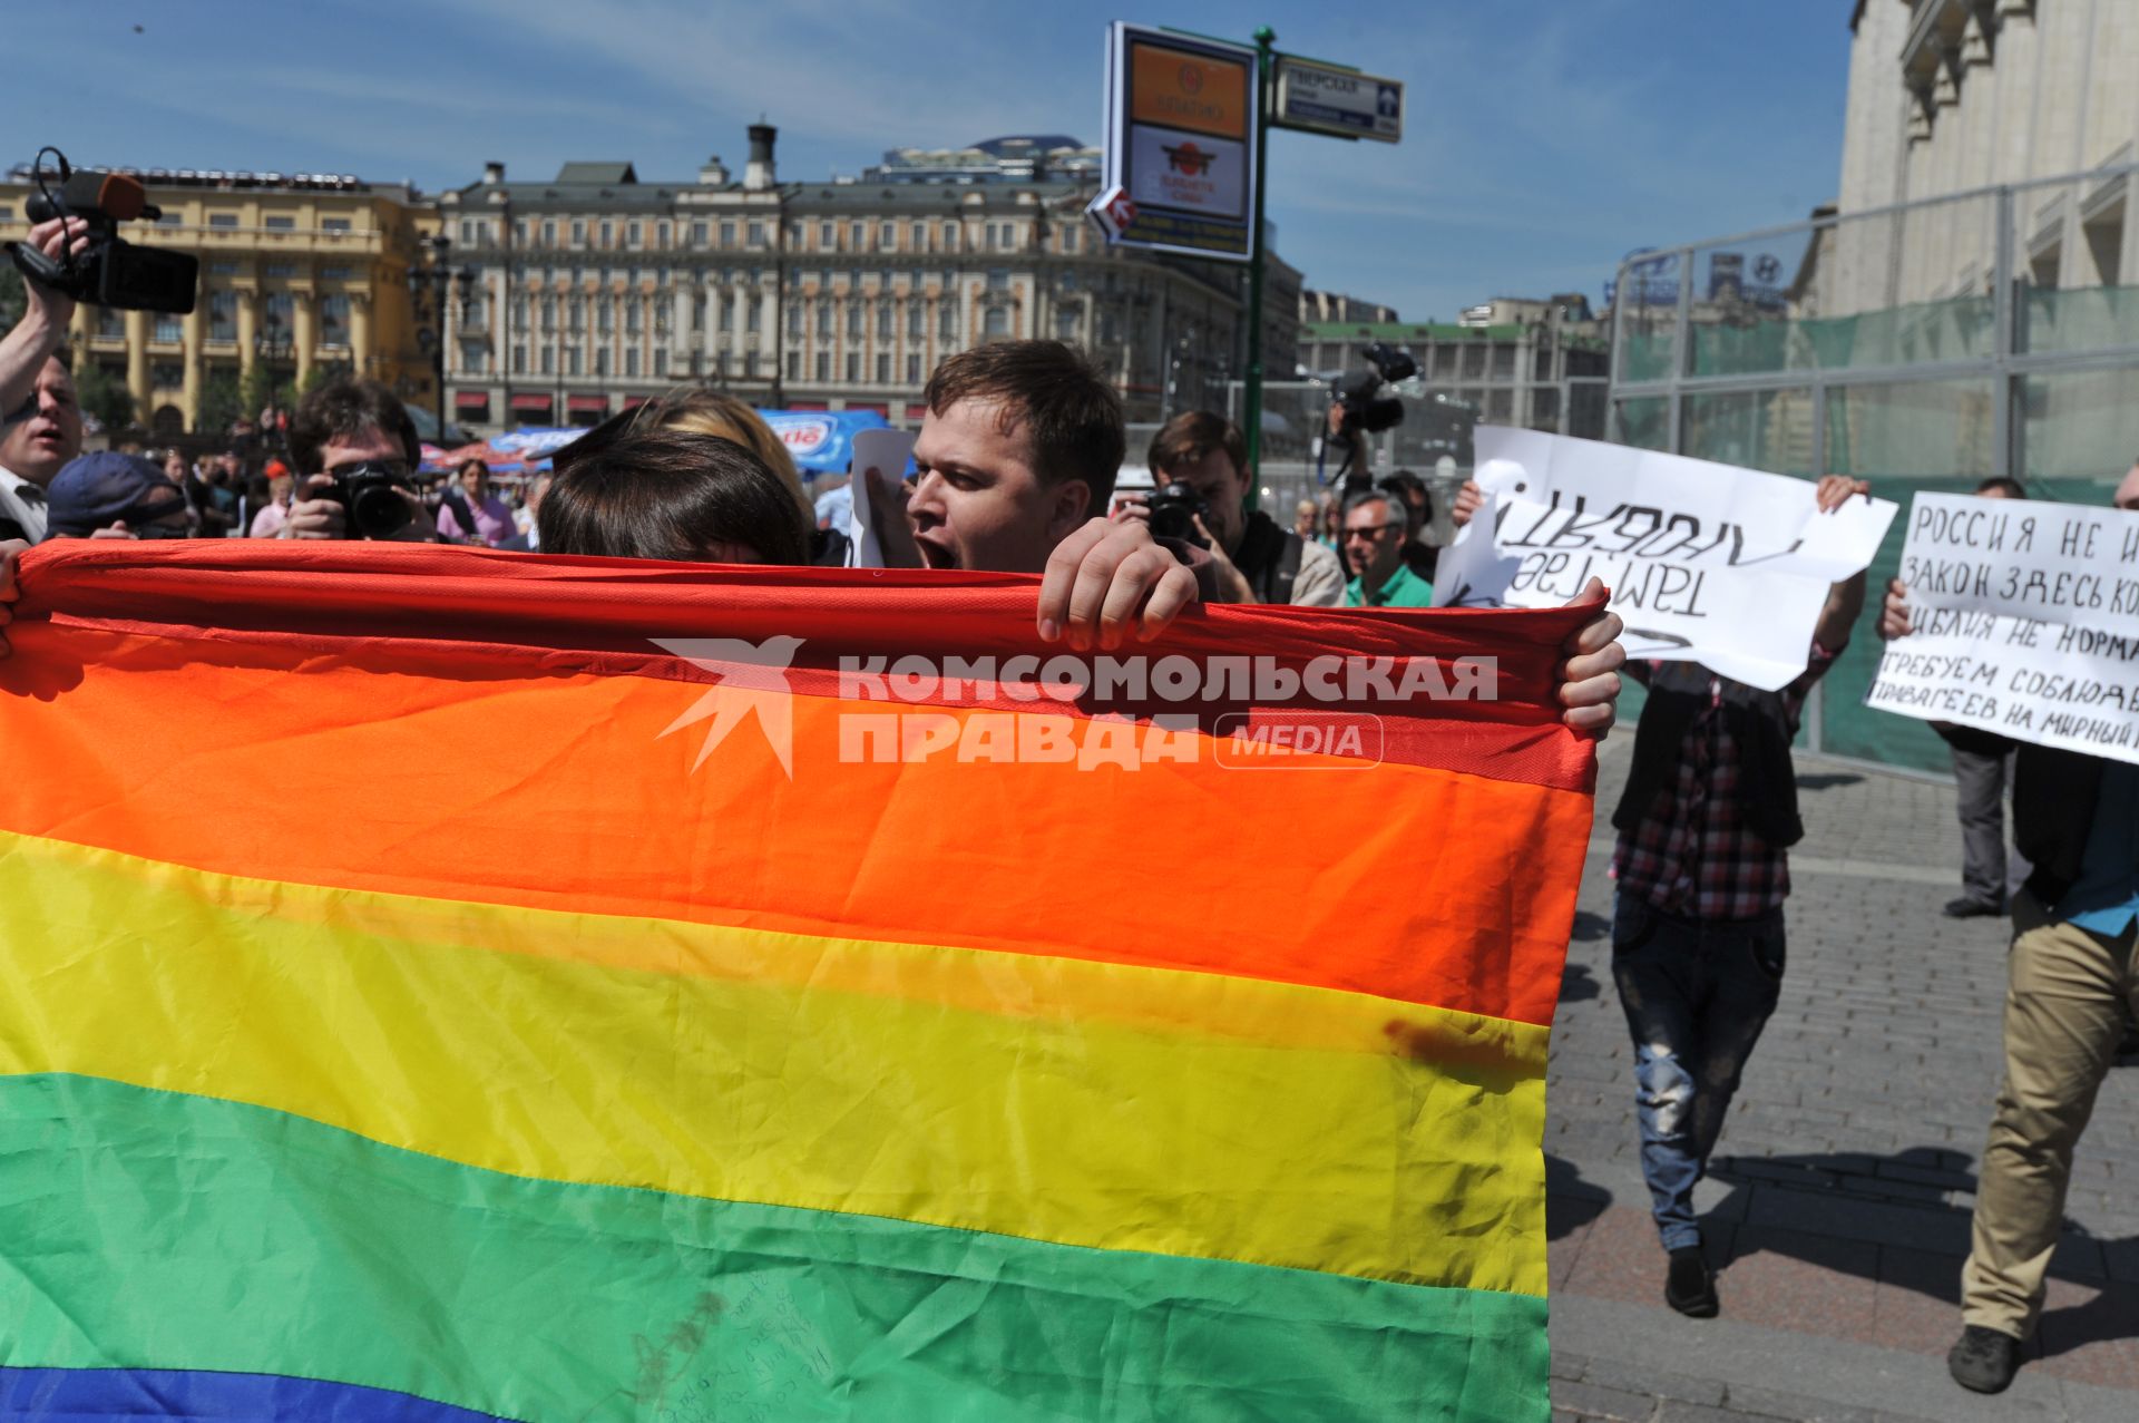
<instances>
[{"instance_id":1,"label":"dark brown-haired head facing away, just behind the flag's top edge","mask_svg":"<svg viewBox=\"0 0 2139 1423\"><path fill-rule=\"evenodd\" d=\"M678 563L809 563L809 520L751 449L650 426L567 445L537 511L545 554Z\"/></svg>"}]
</instances>

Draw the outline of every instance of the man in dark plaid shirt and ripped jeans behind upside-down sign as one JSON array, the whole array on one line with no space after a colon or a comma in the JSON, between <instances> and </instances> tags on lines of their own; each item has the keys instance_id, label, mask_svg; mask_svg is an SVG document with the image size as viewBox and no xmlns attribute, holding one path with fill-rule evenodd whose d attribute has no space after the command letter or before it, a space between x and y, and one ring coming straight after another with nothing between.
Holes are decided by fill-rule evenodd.
<instances>
[{"instance_id":1,"label":"man in dark plaid shirt and ripped jeans behind upside-down sign","mask_svg":"<svg viewBox=\"0 0 2139 1423\"><path fill-rule=\"evenodd\" d=\"M1818 507L1852 494L1869 486L1827 475ZM1641 1173L1671 1256L1664 1301L1694 1318L1718 1312L1694 1185L1782 993L1784 852L1803 835L1790 740L1863 601L1863 573L1829 588L1805 670L1780 691L1698 663L1628 665L1649 702L1613 815L1613 978L1634 1036Z\"/></svg>"}]
</instances>

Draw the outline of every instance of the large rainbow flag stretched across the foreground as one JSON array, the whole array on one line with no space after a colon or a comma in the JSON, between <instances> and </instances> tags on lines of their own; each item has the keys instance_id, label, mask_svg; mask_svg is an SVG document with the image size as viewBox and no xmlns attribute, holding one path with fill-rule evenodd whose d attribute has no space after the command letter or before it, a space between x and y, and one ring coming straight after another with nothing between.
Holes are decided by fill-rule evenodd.
<instances>
[{"instance_id":1,"label":"large rainbow flag stretched across the foreground","mask_svg":"<svg viewBox=\"0 0 2139 1423\"><path fill-rule=\"evenodd\" d=\"M19 582L0 1414L1546 1417L1587 612Z\"/></svg>"}]
</instances>

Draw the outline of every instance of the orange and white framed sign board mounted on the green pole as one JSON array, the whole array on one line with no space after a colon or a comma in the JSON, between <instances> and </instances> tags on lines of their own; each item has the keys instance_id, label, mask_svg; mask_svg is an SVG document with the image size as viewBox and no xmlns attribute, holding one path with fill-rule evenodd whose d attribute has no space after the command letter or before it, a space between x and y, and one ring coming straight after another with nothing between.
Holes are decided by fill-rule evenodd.
<instances>
[{"instance_id":1,"label":"orange and white framed sign board mounted on the green pole","mask_svg":"<svg viewBox=\"0 0 2139 1423\"><path fill-rule=\"evenodd\" d=\"M1108 26L1104 197L1093 220L1123 246L1249 261L1258 96L1251 45Z\"/></svg>"}]
</instances>

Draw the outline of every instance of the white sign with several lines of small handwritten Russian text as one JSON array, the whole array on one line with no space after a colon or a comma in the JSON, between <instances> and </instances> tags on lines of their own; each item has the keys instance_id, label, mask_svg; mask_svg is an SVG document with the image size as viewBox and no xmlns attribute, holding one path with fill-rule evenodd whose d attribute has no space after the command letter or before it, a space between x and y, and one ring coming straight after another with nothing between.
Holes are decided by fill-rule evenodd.
<instances>
[{"instance_id":1,"label":"white sign with several lines of small handwritten Russian text","mask_svg":"<svg viewBox=\"0 0 2139 1423\"><path fill-rule=\"evenodd\" d=\"M1865 706L2139 762L2139 514L1917 494Z\"/></svg>"}]
</instances>

